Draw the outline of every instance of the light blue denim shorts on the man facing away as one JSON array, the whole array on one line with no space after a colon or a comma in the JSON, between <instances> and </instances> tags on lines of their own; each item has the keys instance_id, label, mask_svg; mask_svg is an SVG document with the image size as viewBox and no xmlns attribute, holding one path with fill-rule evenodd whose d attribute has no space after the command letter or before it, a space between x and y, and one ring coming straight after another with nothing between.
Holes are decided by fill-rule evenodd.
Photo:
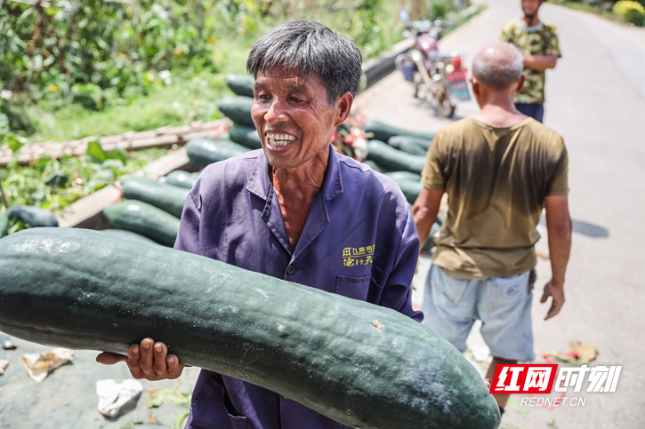
<instances>
[{"instance_id":1,"label":"light blue denim shorts on the man facing away","mask_svg":"<svg viewBox=\"0 0 645 429\"><path fill-rule=\"evenodd\" d=\"M493 356L533 361L529 274L462 280L432 264L423 295L423 323L464 353L472 324L479 319L481 336Z\"/></svg>"}]
</instances>

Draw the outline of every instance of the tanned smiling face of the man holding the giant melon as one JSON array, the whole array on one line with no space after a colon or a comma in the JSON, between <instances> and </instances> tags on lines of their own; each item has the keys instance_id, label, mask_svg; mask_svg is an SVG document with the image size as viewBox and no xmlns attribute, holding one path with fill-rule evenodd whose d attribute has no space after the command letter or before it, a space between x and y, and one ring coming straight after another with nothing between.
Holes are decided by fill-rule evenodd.
<instances>
[{"instance_id":1,"label":"tanned smiling face of the man holding the giant melon","mask_svg":"<svg viewBox=\"0 0 645 429\"><path fill-rule=\"evenodd\" d=\"M340 110L329 104L327 88L314 73L274 68L255 80L251 115L273 167L292 169L328 150Z\"/></svg>"}]
</instances>

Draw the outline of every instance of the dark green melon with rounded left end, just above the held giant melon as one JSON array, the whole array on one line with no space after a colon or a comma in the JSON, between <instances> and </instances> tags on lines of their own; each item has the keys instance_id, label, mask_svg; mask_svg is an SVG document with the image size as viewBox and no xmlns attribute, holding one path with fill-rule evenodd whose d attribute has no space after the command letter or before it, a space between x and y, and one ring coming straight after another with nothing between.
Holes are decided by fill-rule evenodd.
<instances>
[{"instance_id":1,"label":"dark green melon with rounded left end, just above the held giant melon","mask_svg":"<svg viewBox=\"0 0 645 429\"><path fill-rule=\"evenodd\" d=\"M179 233L179 218L142 201L114 203L103 211L103 215L117 229L132 231L168 247L173 247Z\"/></svg>"}]
</instances>

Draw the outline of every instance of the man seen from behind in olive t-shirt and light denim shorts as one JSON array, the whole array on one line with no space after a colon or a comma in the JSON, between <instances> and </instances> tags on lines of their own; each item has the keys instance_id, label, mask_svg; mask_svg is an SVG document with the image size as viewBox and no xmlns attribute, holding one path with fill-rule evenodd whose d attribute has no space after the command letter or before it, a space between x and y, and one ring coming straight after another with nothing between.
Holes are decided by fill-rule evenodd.
<instances>
[{"instance_id":1,"label":"man seen from behind in olive t-shirt and light denim shorts","mask_svg":"<svg viewBox=\"0 0 645 429\"><path fill-rule=\"evenodd\" d=\"M427 237L444 193L447 219L426 282L423 314L432 329L460 351L472 324L499 363L532 361L531 274L536 226L543 208L551 251L550 319L564 304L564 273L571 247L568 161L562 138L522 115L513 104L521 89L522 56L510 44L493 44L472 63L479 114L437 133L423 170L423 191L413 212ZM496 395L504 412L508 395Z\"/></svg>"}]
</instances>

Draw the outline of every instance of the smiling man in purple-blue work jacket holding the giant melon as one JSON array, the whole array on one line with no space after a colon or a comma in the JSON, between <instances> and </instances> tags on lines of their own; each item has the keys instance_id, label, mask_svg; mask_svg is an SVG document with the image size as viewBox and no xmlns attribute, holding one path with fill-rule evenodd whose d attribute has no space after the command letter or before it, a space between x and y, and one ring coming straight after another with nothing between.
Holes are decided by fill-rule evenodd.
<instances>
[{"instance_id":1,"label":"smiling man in purple-blue work jacket holding the giant melon","mask_svg":"<svg viewBox=\"0 0 645 429\"><path fill-rule=\"evenodd\" d=\"M356 45L316 22L262 36L246 67L262 150L215 163L186 201L175 248L258 273L387 306L417 321L410 283L419 240L399 187L335 153L335 127L359 88ZM244 303L240 303L243 305ZM311 321L315 323L316 321ZM133 377L181 374L177 356L146 338L127 358ZM341 428L278 393L202 370L189 428Z\"/></svg>"}]
</instances>

